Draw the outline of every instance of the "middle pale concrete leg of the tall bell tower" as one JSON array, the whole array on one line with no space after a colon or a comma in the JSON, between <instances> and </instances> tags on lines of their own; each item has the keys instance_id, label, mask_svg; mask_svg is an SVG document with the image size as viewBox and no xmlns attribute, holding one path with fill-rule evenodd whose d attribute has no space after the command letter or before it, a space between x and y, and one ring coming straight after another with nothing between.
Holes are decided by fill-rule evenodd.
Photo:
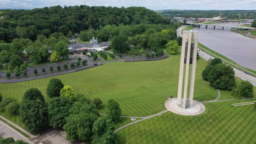
<instances>
[{"instance_id":1,"label":"middle pale concrete leg of the tall bell tower","mask_svg":"<svg viewBox=\"0 0 256 144\"><path fill-rule=\"evenodd\" d=\"M188 50L187 50L187 58L186 58L186 73L185 73L185 83L184 83L182 108L186 108L186 99L187 99L187 93L188 93L189 61L190 61L191 42L192 42L192 31L189 33L189 37L188 37Z\"/></svg>"}]
</instances>

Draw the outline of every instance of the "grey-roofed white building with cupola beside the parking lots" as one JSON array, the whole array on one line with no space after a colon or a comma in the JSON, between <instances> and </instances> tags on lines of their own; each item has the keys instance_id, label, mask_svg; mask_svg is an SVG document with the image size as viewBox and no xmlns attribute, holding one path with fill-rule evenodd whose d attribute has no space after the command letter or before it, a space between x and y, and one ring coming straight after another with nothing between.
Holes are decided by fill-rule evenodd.
<instances>
[{"instance_id":1,"label":"grey-roofed white building with cupola beside the parking lots","mask_svg":"<svg viewBox=\"0 0 256 144\"><path fill-rule=\"evenodd\" d=\"M68 49L73 53L81 53L83 51L92 51L92 52L103 52L109 48L110 42L101 42L98 43L98 39L92 38L90 43L76 43L73 45L68 45Z\"/></svg>"}]
</instances>

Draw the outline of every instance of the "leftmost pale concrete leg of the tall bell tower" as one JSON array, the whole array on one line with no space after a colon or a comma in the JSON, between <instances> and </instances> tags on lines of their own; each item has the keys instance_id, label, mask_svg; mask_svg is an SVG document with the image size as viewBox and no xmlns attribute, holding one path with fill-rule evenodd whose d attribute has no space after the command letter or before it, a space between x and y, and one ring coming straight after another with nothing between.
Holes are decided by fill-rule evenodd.
<instances>
[{"instance_id":1,"label":"leftmost pale concrete leg of the tall bell tower","mask_svg":"<svg viewBox=\"0 0 256 144\"><path fill-rule=\"evenodd\" d=\"M180 56L180 74L179 74L179 86L178 86L178 95L177 95L177 105L181 104L182 98L182 86L183 86L183 71L184 71L184 58L185 58L185 48L186 48L186 41L188 39L188 33L183 33L182 36L182 49L181 49L181 56Z\"/></svg>"}]
</instances>

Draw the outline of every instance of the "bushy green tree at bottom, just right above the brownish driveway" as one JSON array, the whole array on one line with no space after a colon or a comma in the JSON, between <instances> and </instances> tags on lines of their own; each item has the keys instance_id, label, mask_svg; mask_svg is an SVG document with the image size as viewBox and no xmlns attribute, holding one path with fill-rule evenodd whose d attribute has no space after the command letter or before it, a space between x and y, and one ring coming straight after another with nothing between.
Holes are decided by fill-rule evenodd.
<instances>
[{"instance_id":1,"label":"bushy green tree at bottom, just right above the brownish driveway","mask_svg":"<svg viewBox=\"0 0 256 144\"><path fill-rule=\"evenodd\" d=\"M64 131L67 133L67 140L90 140L92 126L97 118L98 116L92 113L79 113L68 116L66 124L63 126Z\"/></svg>"}]
</instances>

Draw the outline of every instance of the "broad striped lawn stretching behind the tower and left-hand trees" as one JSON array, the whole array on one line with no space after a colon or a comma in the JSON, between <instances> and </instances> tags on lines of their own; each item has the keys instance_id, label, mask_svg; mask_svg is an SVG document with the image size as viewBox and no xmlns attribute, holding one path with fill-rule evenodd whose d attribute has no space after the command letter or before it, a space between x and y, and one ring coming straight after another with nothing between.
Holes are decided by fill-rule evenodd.
<instances>
[{"instance_id":1,"label":"broad striped lawn stretching behind the tower and left-hand trees","mask_svg":"<svg viewBox=\"0 0 256 144\"><path fill-rule=\"evenodd\" d=\"M122 115L148 116L165 110L167 96L177 95L180 54L169 56L159 61L111 62L54 77L71 86L75 94L81 93L91 99L100 97L103 100L101 113L107 112L107 101L113 98L119 102ZM197 61L194 98L198 101L213 100L218 95L214 88L202 81L201 73L206 65L207 61L203 59ZM49 101L46 87L54 77L0 84L1 94L3 98L15 98L21 102L28 88L38 88ZM19 116L0 114L26 129Z\"/></svg>"}]
</instances>

